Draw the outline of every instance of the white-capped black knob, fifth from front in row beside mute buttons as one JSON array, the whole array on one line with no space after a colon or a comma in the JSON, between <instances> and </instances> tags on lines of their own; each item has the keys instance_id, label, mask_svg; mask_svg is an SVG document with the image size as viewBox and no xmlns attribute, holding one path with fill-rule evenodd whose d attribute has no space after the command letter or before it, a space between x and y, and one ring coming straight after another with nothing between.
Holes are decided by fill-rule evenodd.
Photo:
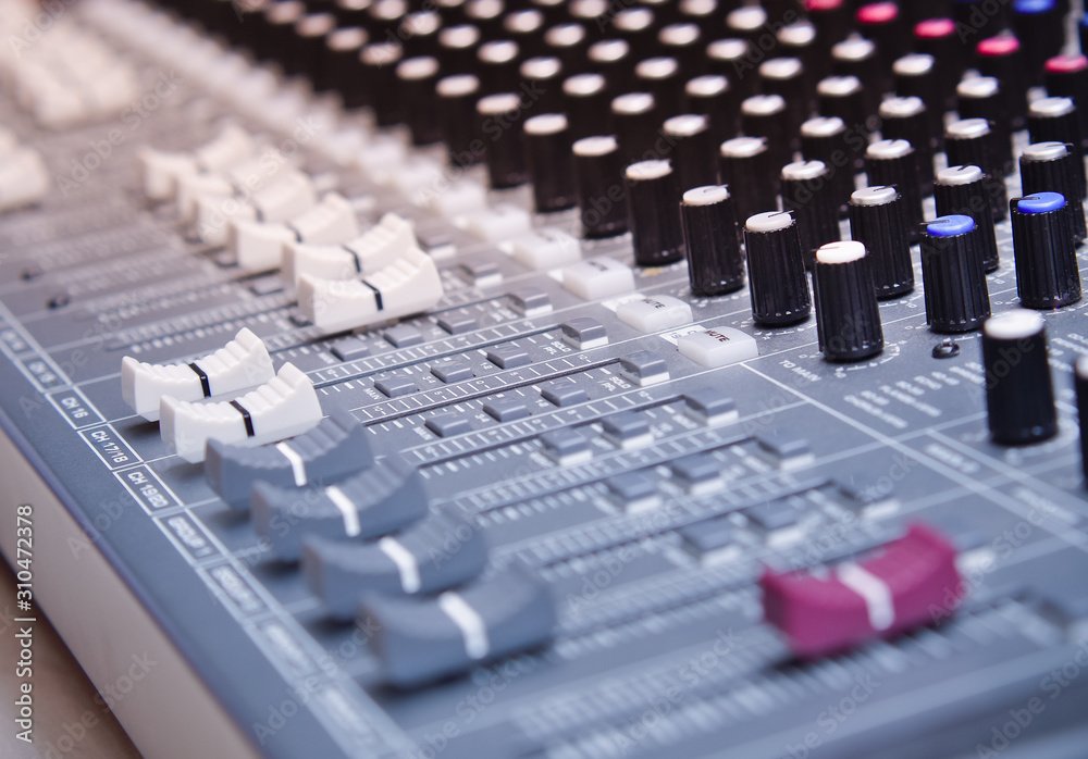
<instances>
[{"instance_id":1,"label":"white-capped black knob, fifth from front in row beside mute buttons","mask_svg":"<svg viewBox=\"0 0 1088 759\"><path fill-rule=\"evenodd\" d=\"M582 236L594 239L627 232L623 166L615 137L584 137L571 147L574 188L581 209Z\"/></svg>"}]
</instances>

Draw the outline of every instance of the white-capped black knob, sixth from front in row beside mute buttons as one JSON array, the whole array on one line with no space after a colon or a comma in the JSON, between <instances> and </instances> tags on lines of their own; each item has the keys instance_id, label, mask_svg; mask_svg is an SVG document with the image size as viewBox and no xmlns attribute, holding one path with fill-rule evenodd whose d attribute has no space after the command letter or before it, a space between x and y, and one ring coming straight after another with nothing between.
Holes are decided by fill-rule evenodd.
<instances>
[{"instance_id":1,"label":"white-capped black knob, sixth from front in row beside mute buttons","mask_svg":"<svg viewBox=\"0 0 1088 759\"><path fill-rule=\"evenodd\" d=\"M578 204L570 130L561 113L526 120L526 158L537 213L565 211Z\"/></svg>"}]
</instances>

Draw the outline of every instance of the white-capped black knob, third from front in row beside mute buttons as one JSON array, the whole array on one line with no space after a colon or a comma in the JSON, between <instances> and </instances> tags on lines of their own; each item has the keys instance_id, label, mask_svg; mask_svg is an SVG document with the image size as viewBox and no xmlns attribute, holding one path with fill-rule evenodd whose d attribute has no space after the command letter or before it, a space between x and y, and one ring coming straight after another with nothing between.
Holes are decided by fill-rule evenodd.
<instances>
[{"instance_id":1,"label":"white-capped black knob, third from front in row beside mute buttons","mask_svg":"<svg viewBox=\"0 0 1088 759\"><path fill-rule=\"evenodd\" d=\"M692 295L713 297L742 288L744 258L729 190L721 185L690 189L680 211Z\"/></svg>"}]
</instances>

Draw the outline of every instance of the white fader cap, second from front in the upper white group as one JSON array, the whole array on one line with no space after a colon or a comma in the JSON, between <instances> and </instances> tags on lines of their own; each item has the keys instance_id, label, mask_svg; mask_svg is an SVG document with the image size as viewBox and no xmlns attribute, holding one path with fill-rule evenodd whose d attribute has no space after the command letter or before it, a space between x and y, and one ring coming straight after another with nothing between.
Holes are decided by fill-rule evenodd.
<instances>
[{"instance_id":1,"label":"white fader cap, second from front in the upper white group","mask_svg":"<svg viewBox=\"0 0 1088 759\"><path fill-rule=\"evenodd\" d=\"M314 279L355 279L396 261L407 251L418 249L411 222L395 213L355 239L337 246L290 244L285 247L284 275L297 287L304 274Z\"/></svg>"}]
</instances>

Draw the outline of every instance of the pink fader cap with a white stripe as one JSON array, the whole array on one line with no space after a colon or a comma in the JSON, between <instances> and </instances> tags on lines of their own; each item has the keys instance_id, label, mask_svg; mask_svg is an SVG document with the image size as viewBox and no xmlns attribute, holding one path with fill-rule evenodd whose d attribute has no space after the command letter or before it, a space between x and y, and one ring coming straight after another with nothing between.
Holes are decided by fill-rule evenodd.
<instances>
[{"instance_id":1,"label":"pink fader cap with a white stripe","mask_svg":"<svg viewBox=\"0 0 1088 759\"><path fill-rule=\"evenodd\" d=\"M917 523L862 564L842 564L823 577L768 570L761 585L766 621L786 633L802 658L943 619L963 592L955 549Z\"/></svg>"}]
</instances>

